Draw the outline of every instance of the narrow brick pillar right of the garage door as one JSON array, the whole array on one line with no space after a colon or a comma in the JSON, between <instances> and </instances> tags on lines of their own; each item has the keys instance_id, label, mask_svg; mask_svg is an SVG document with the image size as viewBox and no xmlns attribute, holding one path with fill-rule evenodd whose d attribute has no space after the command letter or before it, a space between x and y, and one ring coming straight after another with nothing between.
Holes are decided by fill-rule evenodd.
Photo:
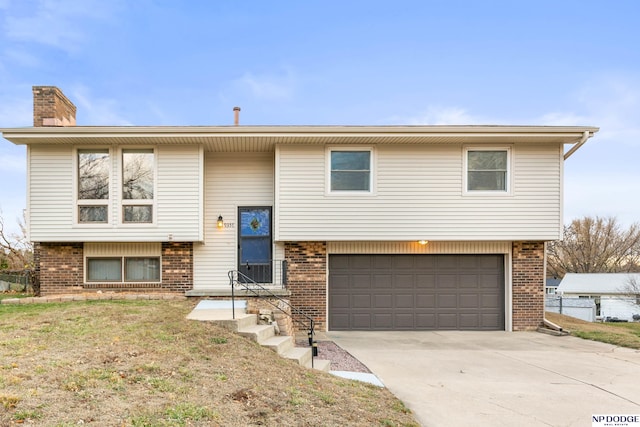
<instances>
[{"instance_id":1,"label":"narrow brick pillar right of the garage door","mask_svg":"<svg viewBox=\"0 0 640 427\"><path fill-rule=\"evenodd\" d=\"M544 319L544 242L513 242L513 330L535 330Z\"/></svg>"}]
</instances>

